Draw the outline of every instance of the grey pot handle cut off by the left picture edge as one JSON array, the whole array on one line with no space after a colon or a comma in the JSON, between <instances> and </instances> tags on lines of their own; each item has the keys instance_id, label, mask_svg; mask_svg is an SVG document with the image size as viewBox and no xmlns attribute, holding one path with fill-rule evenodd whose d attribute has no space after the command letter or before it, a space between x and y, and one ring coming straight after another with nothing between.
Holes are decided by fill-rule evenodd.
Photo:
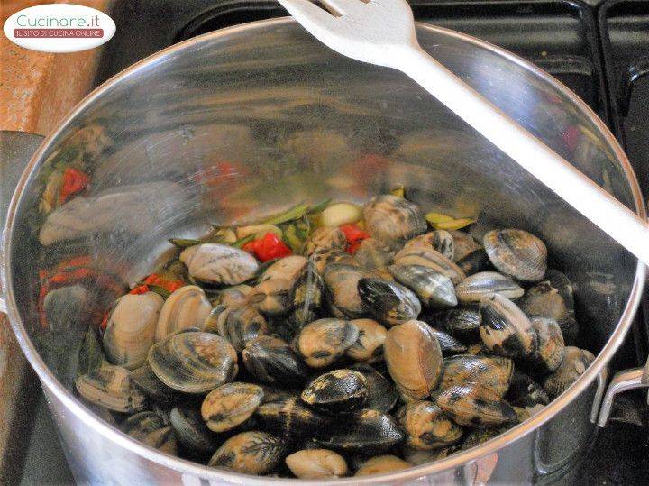
<instances>
[{"instance_id":1,"label":"grey pot handle cut off by the left picture edge","mask_svg":"<svg viewBox=\"0 0 649 486\"><path fill-rule=\"evenodd\" d=\"M0 130L0 243L5 239L5 223L9 203L14 190L23 174L23 170L32 159L43 140L42 135L36 133L14 132ZM4 269L4 257L0 251L0 272ZM2 275L2 282L4 275ZM5 292L0 283L0 312L6 313Z\"/></svg>"}]
</instances>

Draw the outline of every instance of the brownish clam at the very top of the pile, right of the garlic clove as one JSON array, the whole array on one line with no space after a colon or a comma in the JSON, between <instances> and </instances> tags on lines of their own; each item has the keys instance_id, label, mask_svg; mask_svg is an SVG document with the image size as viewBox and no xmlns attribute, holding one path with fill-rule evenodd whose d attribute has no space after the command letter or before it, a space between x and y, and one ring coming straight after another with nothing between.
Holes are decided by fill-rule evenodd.
<instances>
[{"instance_id":1,"label":"brownish clam at the very top of the pile, right of the garlic clove","mask_svg":"<svg viewBox=\"0 0 649 486\"><path fill-rule=\"evenodd\" d=\"M363 207L367 232L382 242L405 243L426 231L421 210L403 197L377 196Z\"/></svg>"}]
</instances>

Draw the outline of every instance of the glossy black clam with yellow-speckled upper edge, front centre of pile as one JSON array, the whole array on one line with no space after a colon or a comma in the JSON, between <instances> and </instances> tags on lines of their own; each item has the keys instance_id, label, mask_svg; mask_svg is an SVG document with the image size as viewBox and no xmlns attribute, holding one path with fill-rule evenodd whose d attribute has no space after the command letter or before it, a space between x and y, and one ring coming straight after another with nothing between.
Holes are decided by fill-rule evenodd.
<instances>
[{"instance_id":1,"label":"glossy black clam with yellow-speckled upper edge, front centre of pile","mask_svg":"<svg viewBox=\"0 0 649 486\"><path fill-rule=\"evenodd\" d=\"M365 377L358 371L334 370L310 381L302 391L302 401L327 412L351 412L368 399Z\"/></svg>"}]
</instances>

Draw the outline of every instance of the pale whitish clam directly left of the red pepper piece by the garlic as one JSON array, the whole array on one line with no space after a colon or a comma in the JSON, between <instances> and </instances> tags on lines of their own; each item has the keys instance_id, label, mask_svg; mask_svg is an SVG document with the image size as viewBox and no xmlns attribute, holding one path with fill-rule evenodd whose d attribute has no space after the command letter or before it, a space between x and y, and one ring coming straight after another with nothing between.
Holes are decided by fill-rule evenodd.
<instances>
[{"instance_id":1,"label":"pale whitish clam directly left of the red pepper piece by the garlic","mask_svg":"<svg viewBox=\"0 0 649 486\"><path fill-rule=\"evenodd\" d=\"M180 253L189 275L216 284L237 285L251 279L259 263L247 252L220 243L190 246Z\"/></svg>"}]
</instances>

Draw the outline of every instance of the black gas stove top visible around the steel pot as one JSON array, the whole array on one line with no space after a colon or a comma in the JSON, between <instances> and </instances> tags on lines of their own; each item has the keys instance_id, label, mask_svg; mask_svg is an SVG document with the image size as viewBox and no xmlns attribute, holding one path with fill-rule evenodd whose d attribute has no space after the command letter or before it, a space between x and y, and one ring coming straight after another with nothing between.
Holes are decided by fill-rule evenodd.
<instances>
[{"instance_id":1,"label":"black gas stove top visible around the steel pot","mask_svg":"<svg viewBox=\"0 0 649 486\"><path fill-rule=\"evenodd\" d=\"M649 1L410 0L410 4L416 20L511 50L570 87L623 144L644 197L649 197L649 116L644 113L649 106ZM118 0L111 12L117 33L105 46L95 84L176 42L286 14L269 0ZM649 350L647 317L649 298L644 298L633 331L611 363L611 371L644 363ZM645 406L640 405L640 395L632 395L629 401L641 414L618 411L579 466L580 483L646 482L649 434L644 427ZM70 481L43 407L41 403L38 425L26 451L23 481ZM49 457L48 464L43 457Z\"/></svg>"}]
</instances>

